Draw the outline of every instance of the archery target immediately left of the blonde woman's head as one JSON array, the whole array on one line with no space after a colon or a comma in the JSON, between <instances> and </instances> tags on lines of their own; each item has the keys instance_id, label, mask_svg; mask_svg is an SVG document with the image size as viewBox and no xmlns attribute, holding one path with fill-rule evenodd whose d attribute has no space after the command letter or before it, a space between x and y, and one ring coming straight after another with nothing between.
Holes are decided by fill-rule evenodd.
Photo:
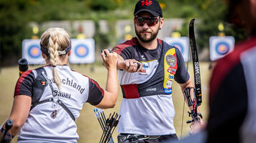
<instances>
[{"instance_id":1,"label":"archery target immediately left of the blonde woman's head","mask_svg":"<svg viewBox=\"0 0 256 143\"><path fill-rule=\"evenodd\" d=\"M22 41L22 58L27 59L28 64L44 64L41 56L40 39L24 39Z\"/></svg>"}]
</instances>

